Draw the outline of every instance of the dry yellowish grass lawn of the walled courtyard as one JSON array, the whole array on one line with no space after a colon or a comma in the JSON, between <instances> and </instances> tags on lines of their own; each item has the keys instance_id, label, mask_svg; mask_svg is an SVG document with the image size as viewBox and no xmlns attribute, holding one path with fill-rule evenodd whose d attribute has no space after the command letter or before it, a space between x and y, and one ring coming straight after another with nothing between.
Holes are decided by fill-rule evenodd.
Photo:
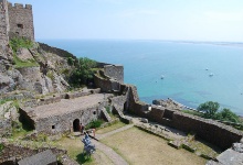
<instances>
[{"instance_id":1,"label":"dry yellowish grass lawn of the walled courtyard","mask_svg":"<svg viewBox=\"0 0 243 165\"><path fill-rule=\"evenodd\" d=\"M102 140L129 164L200 165L205 160L186 150L176 150L167 141L131 128Z\"/></svg>"}]
</instances>

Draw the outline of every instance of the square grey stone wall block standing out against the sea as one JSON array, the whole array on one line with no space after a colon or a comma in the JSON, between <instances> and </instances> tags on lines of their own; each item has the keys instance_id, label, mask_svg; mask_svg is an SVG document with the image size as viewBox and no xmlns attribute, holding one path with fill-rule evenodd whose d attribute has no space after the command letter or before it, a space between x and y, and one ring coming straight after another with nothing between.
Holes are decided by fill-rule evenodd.
<instances>
[{"instance_id":1,"label":"square grey stone wall block standing out against the sea","mask_svg":"<svg viewBox=\"0 0 243 165\"><path fill-rule=\"evenodd\" d=\"M112 79L124 82L124 66L122 65L105 65L104 74Z\"/></svg>"}]
</instances>

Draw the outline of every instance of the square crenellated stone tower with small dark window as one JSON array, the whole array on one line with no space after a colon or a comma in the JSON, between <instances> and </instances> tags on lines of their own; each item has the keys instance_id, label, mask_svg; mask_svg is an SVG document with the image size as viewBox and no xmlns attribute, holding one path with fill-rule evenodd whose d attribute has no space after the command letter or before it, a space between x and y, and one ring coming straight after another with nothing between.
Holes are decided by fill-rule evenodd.
<instances>
[{"instance_id":1,"label":"square crenellated stone tower with small dark window","mask_svg":"<svg viewBox=\"0 0 243 165\"><path fill-rule=\"evenodd\" d=\"M10 33L9 36L24 36L34 41L34 25L32 6L12 3L8 4Z\"/></svg>"}]
</instances>

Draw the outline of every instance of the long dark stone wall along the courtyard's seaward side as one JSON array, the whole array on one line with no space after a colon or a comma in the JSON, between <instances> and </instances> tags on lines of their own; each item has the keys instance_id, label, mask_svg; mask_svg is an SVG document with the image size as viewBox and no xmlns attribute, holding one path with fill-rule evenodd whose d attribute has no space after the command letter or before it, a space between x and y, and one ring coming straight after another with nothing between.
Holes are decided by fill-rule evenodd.
<instances>
[{"instance_id":1,"label":"long dark stone wall along the courtyard's seaward side","mask_svg":"<svg viewBox=\"0 0 243 165\"><path fill-rule=\"evenodd\" d=\"M148 106L148 105L147 105ZM201 138L225 150L232 143L239 142L243 133L225 124L207 120L199 117L186 114L179 111L152 107L150 111L146 109L146 105L136 102L133 105L131 112L147 118L151 121L186 131L193 132Z\"/></svg>"}]
</instances>

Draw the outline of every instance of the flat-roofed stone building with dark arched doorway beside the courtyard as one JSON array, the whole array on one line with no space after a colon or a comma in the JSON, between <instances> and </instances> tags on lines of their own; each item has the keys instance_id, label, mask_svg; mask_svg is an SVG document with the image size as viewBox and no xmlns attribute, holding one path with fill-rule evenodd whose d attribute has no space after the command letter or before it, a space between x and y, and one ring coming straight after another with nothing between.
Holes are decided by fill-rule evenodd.
<instances>
[{"instance_id":1,"label":"flat-roofed stone building with dark arched doorway beside the courtyard","mask_svg":"<svg viewBox=\"0 0 243 165\"><path fill-rule=\"evenodd\" d=\"M112 95L104 97L103 94L93 94L78 98L68 97L55 103L21 108L20 113L38 132L56 134L78 131L80 123L85 125L101 117L109 96Z\"/></svg>"}]
</instances>

